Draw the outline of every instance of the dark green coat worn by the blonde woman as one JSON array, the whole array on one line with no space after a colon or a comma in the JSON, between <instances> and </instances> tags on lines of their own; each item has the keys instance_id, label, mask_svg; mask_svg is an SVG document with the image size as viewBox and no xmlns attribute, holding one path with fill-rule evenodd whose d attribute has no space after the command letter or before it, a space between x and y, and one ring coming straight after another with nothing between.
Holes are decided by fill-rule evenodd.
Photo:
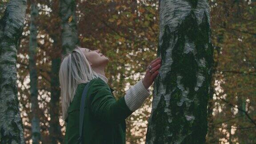
<instances>
[{"instance_id":1,"label":"dark green coat worn by the blonde woman","mask_svg":"<svg viewBox=\"0 0 256 144\"><path fill-rule=\"evenodd\" d=\"M80 100L85 85L78 85L68 108L65 144L78 144ZM84 144L125 144L125 119L132 111L124 96L116 100L113 91L101 78L91 80L85 100Z\"/></svg>"}]
</instances>

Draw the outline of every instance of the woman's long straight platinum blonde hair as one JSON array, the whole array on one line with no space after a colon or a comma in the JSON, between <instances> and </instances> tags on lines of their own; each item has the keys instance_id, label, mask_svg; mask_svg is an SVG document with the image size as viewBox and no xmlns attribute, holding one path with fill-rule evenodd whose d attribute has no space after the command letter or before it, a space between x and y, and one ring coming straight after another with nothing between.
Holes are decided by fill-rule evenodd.
<instances>
[{"instance_id":1,"label":"woman's long straight platinum blonde hair","mask_svg":"<svg viewBox=\"0 0 256 144\"><path fill-rule=\"evenodd\" d=\"M67 53L61 60L59 80L63 120L68 117L68 108L76 93L78 84L98 78L79 46Z\"/></svg>"}]
</instances>

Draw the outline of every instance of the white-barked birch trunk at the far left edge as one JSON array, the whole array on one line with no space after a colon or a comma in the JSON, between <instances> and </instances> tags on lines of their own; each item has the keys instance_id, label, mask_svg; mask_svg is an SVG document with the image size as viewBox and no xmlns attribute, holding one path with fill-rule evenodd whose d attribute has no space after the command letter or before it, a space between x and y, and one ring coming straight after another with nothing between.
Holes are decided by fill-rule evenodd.
<instances>
[{"instance_id":1,"label":"white-barked birch trunk at the far left edge","mask_svg":"<svg viewBox=\"0 0 256 144\"><path fill-rule=\"evenodd\" d=\"M17 48L23 31L26 0L10 0L0 20L0 143L24 144L17 96Z\"/></svg>"}]
</instances>

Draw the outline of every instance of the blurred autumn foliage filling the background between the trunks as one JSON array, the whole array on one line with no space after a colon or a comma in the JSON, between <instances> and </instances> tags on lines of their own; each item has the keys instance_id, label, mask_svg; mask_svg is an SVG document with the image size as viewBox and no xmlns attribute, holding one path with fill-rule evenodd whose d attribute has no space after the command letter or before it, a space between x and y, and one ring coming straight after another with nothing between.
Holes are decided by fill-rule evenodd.
<instances>
[{"instance_id":1,"label":"blurred autumn foliage filling the background between the trunks","mask_svg":"<svg viewBox=\"0 0 256 144\"><path fill-rule=\"evenodd\" d=\"M35 53L38 116L41 141L49 143L52 59L61 48L59 1L37 0L37 48ZM0 2L0 18L4 5ZM207 143L256 143L256 1L210 0L214 52L214 92L208 104ZM80 46L109 57L108 84L120 98L143 78L147 65L156 58L159 36L158 0L77 0L77 34ZM72 17L69 18L72 21ZM31 1L28 0L24 31L18 48L17 84L26 143L32 142L29 36ZM152 90L152 87L150 87ZM128 144L144 143L152 96L127 118ZM60 107L61 105L59 105ZM59 108L61 109L61 108ZM59 112L61 133L65 125Z\"/></svg>"}]
</instances>

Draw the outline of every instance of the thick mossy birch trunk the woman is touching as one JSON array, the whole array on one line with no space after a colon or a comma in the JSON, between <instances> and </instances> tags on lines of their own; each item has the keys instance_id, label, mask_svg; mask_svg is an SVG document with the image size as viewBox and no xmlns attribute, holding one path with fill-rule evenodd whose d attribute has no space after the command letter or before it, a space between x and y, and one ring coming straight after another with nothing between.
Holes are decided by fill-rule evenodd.
<instances>
[{"instance_id":1,"label":"thick mossy birch trunk the woman is touching","mask_svg":"<svg viewBox=\"0 0 256 144\"><path fill-rule=\"evenodd\" d=\"M205 143L213 67L208 0L160 0L157 55L146 143Z\"/></svg>"}]
</instances>

